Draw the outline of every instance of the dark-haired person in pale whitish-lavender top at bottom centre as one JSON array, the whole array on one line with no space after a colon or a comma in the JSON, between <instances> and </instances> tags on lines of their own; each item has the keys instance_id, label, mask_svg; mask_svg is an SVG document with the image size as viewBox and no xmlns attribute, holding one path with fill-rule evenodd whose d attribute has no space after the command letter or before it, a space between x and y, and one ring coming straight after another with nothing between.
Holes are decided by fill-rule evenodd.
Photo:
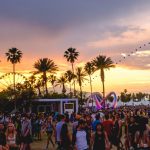
<instances>
[{"instance_id":1,"label":"dark-haired person in pale whitish-lavender top at bottom centre","mask_svg":"<svg viewBox=\"0 0 150 150\"><path fill-rule=\"evenodd\" d=\"M73 146L76 150L88 150L90 139L85 131L85 121L80 119L76 131L72 138Z\"/></svg>"}]
</instances>

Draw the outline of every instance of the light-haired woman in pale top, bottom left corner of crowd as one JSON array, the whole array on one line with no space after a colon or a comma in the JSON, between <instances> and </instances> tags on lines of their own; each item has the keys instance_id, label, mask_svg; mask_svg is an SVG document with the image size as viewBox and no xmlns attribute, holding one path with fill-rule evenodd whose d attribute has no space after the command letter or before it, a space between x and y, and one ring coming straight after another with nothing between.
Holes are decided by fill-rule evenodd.
<instances>
[{"instance_id":1,"label":"light-haired woman in pale top, bottom left corner of crowd","mask_svg":"<svg viewBox=\"0 0 150 150\"><path fill-rule=\"evenodd\" d=\"M9 146L9 150L18 150L19 147L16 144L17 132L13 123L9 123L6 130L6 142Z\"/></svg>"}]
</instances>

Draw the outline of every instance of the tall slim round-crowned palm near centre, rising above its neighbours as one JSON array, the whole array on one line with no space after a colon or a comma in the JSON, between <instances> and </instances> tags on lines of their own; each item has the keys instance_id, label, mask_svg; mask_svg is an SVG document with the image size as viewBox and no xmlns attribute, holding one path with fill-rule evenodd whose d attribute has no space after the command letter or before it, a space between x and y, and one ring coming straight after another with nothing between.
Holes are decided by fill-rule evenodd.
<instances>
[{"instance_id":1,"label":"tall slim round-crowned palm near centre, rising above its neighbours","mask_svg":"<svg viewBox=\"0 0 150 150\"><path fill-rule=\"evenodd\" d=\"M77 60L78 56L79 52L77 52L76 49L72 47L68 48L64 52L64 57L67 59L68 62L71 63L73 74L74 74L74 62L75 60ZM75 95L75 80L74 80L74 95Z\"/></svg>"}]
</instances>

